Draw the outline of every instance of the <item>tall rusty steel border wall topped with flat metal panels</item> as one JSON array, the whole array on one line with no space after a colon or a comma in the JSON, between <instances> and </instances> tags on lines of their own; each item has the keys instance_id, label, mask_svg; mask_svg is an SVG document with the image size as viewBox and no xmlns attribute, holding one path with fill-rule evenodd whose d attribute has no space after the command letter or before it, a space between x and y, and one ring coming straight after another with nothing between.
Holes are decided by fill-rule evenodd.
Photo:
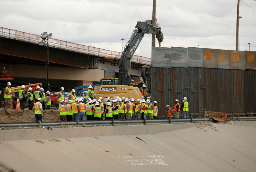
<instances>
[{"instance_id":1,"label":"tall rusty steel border wall topped with flat metal panels","mask_svg":"<svg viewBox=\"0 0 256 172\"><path fill-rule=\"evenodd\" d=\"M188 98L189 113L256 112L256 51L153 47L152 100L158 113Z\"/></svg>"}]
</instances>

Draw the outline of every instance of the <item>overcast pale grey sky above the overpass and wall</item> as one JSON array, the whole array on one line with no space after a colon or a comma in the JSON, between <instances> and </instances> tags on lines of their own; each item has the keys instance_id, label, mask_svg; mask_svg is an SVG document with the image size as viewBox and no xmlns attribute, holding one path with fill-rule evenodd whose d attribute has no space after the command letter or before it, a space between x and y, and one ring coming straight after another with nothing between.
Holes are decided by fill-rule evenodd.
<instances>
[{"instance_id":1,"label":"overcast pale grey sky above the overpass and wall","mask_svg":"<svg viewBox=\"0 0 256 172\"><path fill-rule=\"evenodd\" d=\"M123 43L129 40L137 21L152 20L152 2L0 0L0 27L38 35L46 31L52 38L121 51L121 38ZM256 10L256 1L243 2ZM240 50L249 50L251 43L256 51L256 11L243 2ZM236 50L236 9L237 0L156 0L157 23L164 34L161 46ZM135 54L151 57L151 35L144 36Z\"/></svg>"}]
</instances>

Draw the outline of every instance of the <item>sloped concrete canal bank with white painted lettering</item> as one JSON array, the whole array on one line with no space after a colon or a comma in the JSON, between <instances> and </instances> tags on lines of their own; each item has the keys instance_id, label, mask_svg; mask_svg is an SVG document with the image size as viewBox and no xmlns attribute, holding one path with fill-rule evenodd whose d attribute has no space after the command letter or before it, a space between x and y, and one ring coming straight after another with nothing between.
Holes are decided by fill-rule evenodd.
<instances>
[{"instance_id":1,"label":"sloped concrete canal bank with white painted lettering","mask_svg":"<svg viewBox=\"0 0 256 172\"><path fill-rule=\"evenodd\" d=\"M255 131L203 123L151 135L5 141L0 142L0 162L15 171L251 172Z\"/></svg>"}]
</instances>

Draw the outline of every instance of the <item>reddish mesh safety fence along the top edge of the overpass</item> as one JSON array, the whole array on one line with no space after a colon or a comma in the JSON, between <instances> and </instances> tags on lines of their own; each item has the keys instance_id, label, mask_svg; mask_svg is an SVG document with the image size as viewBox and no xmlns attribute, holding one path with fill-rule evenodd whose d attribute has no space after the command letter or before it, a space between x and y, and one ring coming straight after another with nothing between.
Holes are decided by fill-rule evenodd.
<instances>
[{"instance_id":1,"label":"reddish mesh safety fence along the top edge of the overpass","mask_svg":"<svg viewBox=\"0 0 256 172\"><path fill-rule=\"evenodd\" d=\"M0 36L15 39L15 40L22 40L30 43L38 43L42 41L40 35L30 34L30 33L21 32L18 30L8 29L4 27L0 27ZM71 43L71 42L63 41L60 39L54 39L54 38L51 38L49 40L49 46L65 49L69 51L92 54L92 55L109 58L109 59L120 59L122 55L122 52L90 47L90 46ZM148 58L148 57L133 55L131 61L135 63L151 65L151 58Z\"/></svg>"}]
</instances>

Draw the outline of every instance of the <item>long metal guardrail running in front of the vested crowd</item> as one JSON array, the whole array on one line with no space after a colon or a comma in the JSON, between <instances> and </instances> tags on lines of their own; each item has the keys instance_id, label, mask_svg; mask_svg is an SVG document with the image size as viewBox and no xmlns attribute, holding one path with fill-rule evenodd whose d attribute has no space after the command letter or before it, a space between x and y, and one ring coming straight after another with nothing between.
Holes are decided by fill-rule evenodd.
<instances>
[{"instance_id":1,"label":"long metal guardrail running in front of the vested crowd","mask_svg":"<svg viewBox=\"0 0 256 172\"><path fill-rule=\"evenodd\" d=\"M211 121L211 118L167 118L146 120L90 120L90 121L51 121L51 122L16 122L0 123L0 128L23 128L23 127L61 127L61 126L92 126L92 125L141 125L141 124L163 124L184 123L194 121Z\"/></svg>"}]
</instances>

